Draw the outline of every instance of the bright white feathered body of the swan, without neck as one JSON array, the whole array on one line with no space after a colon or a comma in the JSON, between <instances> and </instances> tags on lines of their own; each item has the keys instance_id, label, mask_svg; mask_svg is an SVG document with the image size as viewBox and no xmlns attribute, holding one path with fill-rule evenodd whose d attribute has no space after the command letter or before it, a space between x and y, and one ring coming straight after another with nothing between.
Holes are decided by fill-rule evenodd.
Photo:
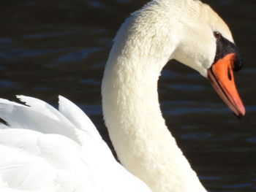
<instances>
[{"instance_id":1,"label":"bright white feathered body of the swan, without neck","mask_svg":"<svg viewBox=\"0 0 256 192\"><path fill-rule=\"evenodd\" d=\"M150 189L113 157L94 124L59 96L59 110L18 96L0 99L0 191L145 191Z\"/></svg>"}]
</instances>

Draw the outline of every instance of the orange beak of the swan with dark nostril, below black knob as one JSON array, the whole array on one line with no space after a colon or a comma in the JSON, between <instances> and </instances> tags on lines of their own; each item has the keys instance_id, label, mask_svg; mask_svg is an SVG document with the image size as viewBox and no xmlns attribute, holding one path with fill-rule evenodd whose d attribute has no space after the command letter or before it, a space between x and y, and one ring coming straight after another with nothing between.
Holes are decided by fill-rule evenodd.
<instances>
[{"instance_id":1,"label":"orange beak of the swan with dark nostril, below black knob","mask_svg":"<svg viewBox=\"0 0 256 192\"><path fill-rule=\"evenodd\" d=\"M208 69L208 79L230 110L242 117L245 115L245 108L236 89L233 74L236 59L236 53L229 53L220 58Z\"/></svg>"}]
</instances>

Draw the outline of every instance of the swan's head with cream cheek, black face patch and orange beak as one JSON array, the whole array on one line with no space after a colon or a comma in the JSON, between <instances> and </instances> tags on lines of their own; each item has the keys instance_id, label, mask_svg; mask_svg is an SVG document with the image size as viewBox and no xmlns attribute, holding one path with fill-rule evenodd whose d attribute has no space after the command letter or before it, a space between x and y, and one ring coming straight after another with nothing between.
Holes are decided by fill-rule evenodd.
<instances>
[{"instance_id":1,"label":"swan's head with cream cheek, black face patch and orange beak","mask_svg":"<svg viewBox=\"0 0 256 192\"><path fill-rule=\"evenodd\" d=\"M227 24L206 4L187 13L173 58L206 77L235 115L245 115L233 72L241 69L241 57ZM195 14L195 12L197 14ZM185 13L186 15L186 13Z\"/></svg>"}]
</instances>

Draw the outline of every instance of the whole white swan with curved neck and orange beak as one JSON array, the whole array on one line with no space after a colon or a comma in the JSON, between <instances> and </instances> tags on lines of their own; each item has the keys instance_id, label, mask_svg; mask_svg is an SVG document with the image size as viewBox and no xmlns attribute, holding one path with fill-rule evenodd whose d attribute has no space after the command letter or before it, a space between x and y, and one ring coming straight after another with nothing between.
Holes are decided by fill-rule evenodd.
<instances>
[{"instance_id":1,"label":"whole white swan with curved neck and orange beak","mask_svg":"<svg viewBox=\"0 0 256 192\"><path fill-rule=\"evenodd\" d=\"M102 80L105 124L125 169L71 101L59 96L56 110L39 99L18 96L26 105L0 100L0 117L7 122L0 129L0 187L206 191L159 107L157 81L172 59L208 78L230 110L245 115L233 74L241 69L241 59L225 22L198 0L153 0L118 30Z\"/></svg>"}]
</instances>

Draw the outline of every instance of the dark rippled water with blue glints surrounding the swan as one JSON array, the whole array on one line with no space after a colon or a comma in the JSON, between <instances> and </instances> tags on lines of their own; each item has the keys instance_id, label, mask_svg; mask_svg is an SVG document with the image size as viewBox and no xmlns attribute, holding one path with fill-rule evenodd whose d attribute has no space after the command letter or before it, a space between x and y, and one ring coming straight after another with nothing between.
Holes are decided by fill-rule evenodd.
<instances>
[{"instance_id":1,"label":"dark rippled water with blue glints surrounding the swan","mask_svg":"<svg viewBox=\"0 0 256 192\"><path fill-rule=\"evenodd\" d=\"M178 145L208 191L256 190L256 1L211 4L233 31L244 58L236 82L246 104L238 120L200 74L180 64L159 82L162 110ZM108 142L100 84L118 26L146 0L1 1L0 93L78 104Z\"/></svg>"}]
</instances>

